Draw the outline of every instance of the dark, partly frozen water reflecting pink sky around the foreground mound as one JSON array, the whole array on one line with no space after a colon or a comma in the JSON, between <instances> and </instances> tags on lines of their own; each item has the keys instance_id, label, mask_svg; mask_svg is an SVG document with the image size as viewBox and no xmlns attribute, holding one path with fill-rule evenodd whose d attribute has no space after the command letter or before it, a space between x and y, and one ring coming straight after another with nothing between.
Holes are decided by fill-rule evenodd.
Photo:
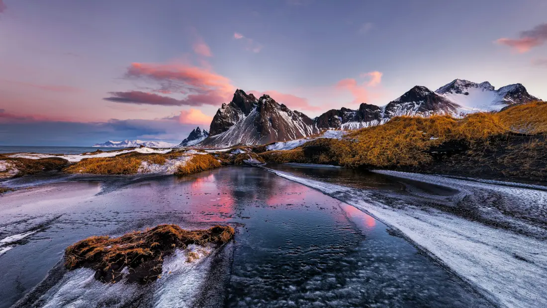
<instances>
[{"instance_id":1,"label":"dark, partly frozen water reflecting pink sky around the foreground mound","mask_svg":"<svg viewBox=\"0 0 547 308\"><path fill-rule=\"evenodd\" d=\"M403 189L386 176L360 181L376 189ZM229 262L213 263L201 278L206 280L201 291L180 306L491 306L373 217L259 168L138 181L120 177L119 182L116 189L107 189L112 182L47 184L0 197L0 239L32 232L0 255L0 307L14 304L42 281L71 243L160 223L231 224L237 231L225 248ZM203 295L210 289L216 297ZM62 292L56 296L66 306L100 305L97 298L83 304L84 299L63 299Z\"/></svg>"}]
</instances>

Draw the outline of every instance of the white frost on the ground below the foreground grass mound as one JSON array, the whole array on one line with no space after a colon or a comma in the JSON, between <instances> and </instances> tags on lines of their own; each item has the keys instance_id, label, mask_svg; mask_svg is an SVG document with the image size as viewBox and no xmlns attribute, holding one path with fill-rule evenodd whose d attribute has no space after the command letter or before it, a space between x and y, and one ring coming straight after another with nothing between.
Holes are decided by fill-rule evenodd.
<instances>
[{"instance_id":1,"label":"white frost on the ground below the foreground grass mound","mask_svg":"<svg viewBox=\"0 0 547 308\"><path fill-rule=\"evenodd\" d=\"M229 253L231 244L220 248ZM46 286L48 278L41 286L32 290L14 307L38 305L44 308L69 307L195 307L203 301L202 297L214 298L214 294L203 291L216 259L211 255L215 250L207 246L190 245L187 249L177 249L167 257L162 268L161 278L153 283L137 284L102 283L94 277L95 271L79 268L64 272L62 277ZM61 271L62 264L54 268ZM50 275L53 275L51 273ZM53 280L53 278L52 278ZM217 303L222 305L222 303ZM214 306L214 305L213 305Z\"/></svg>"}]
</instances>

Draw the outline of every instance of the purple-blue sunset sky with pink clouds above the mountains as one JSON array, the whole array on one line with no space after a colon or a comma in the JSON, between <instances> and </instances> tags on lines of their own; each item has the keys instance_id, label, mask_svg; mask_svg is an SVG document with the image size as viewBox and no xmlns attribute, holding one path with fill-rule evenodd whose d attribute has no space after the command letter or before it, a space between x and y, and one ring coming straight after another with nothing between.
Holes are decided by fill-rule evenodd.
<instances>
[{"instance_id":1,"label":"purple-blue sunset sky with pink clouds above the mountains","mask_svg":"<svg viewBox=\"0 0 547 308\"><path fill-rule=\"evenodd\" d=\"M236 89L310 117L415 85L547 100L547 1L0 0L0 146L181 142Z\"/></svg>"}]
</instances>

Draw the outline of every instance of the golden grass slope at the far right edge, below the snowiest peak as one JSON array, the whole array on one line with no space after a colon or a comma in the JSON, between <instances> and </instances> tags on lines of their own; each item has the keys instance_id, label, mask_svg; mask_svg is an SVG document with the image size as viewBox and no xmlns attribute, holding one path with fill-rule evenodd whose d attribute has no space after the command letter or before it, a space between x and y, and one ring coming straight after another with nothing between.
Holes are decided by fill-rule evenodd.
<instances>
[{"instance_id":1,"label":"golden grass slope at the far right edge, below the snowiest peak","mask_svg":"<svg viewBox=\"0 0 547 308\"><path fill-rule=\"evenodd\" d=\"M547 133L547 102L513 106L498 113L501 123L511 131Z\"/></svg>"}]
</instances>

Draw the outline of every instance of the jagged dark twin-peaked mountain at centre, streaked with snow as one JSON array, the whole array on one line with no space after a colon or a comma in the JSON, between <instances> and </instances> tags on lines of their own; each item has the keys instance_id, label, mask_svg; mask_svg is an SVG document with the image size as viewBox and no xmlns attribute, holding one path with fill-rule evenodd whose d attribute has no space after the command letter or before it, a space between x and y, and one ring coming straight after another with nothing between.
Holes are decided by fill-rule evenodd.
<instances>
[{"instance_id":1,"label":"jagged dark twin-peaked mountain at centre, streaked with snow","mask_svg":"<svg viewBox=\"0 0 547 308\"><path fill-rule=\"evenodd\" d=\"M199 145L228 147L235 144L266 144L289 141L318 133L313 120L291 111L269 95L260 98L236 90L228 104L222 104L211 123L210 136Z\"/></svg>"}]
</instances>

